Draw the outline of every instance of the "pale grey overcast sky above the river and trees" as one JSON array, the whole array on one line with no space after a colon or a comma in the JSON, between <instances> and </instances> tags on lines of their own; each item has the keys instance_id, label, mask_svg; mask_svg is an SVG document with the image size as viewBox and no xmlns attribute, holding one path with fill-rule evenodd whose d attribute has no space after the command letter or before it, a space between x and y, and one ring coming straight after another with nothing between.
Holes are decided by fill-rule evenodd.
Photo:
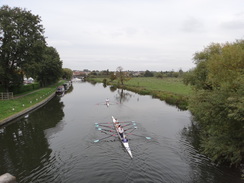
<instances>
[{"instance_id":1,"label":"pale grey overcast sky above the river and trees","mask_svg":"<svg viewBox=\"0 0 244 183\"><path fill-rule=\"evenodd\" d=\"M64 68L187 71L211 43L244 39L244 0L0 0L41 17Z\"/></svg>"}]
</instances>

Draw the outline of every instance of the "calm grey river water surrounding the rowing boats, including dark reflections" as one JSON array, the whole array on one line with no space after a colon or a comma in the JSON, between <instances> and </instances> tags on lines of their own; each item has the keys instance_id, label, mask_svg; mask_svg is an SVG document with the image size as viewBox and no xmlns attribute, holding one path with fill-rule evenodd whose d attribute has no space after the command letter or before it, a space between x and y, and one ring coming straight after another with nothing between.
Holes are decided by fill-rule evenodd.
<instances>
[{"instance_id":1,"label":"calm grey river water surrounding the rowing boats, including dark reflections","mask_svg":"<svg viewBox=\"0 0 244 183\"><path fill-rule=\"evenodd\" d=\"M109 98L111 105L104 105ZM137 122L128 136L133 159L117 137L107 136L94 123ZM113 90L102 84L73 83L55 97L0 127L0 174L9 172L19 183L235 183L239 170L219 167L194 148L189 136L191 114L150 96Z\"/></svg>"}]
</instances>

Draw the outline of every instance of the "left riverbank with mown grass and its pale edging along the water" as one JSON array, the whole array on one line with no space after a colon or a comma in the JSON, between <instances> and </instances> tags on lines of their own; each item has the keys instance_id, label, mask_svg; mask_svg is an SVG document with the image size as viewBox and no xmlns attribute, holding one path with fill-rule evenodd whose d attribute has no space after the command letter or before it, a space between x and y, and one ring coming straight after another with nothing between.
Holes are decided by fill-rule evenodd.
<instances>
[{"instance_id":1,"label":"left riverbank with mown grass and its pale edging along the water","mask_svg":"<svg viewBox=\"0 0 244 183\"><path fill-rule=\"evenodd\" d=\"M46 104L55 96L56 87L63 84L63 82L61 81L55 85L38 89L34 92L25 93L11 100L1 100L0 126Z\"/></svg>"}]
</instances>

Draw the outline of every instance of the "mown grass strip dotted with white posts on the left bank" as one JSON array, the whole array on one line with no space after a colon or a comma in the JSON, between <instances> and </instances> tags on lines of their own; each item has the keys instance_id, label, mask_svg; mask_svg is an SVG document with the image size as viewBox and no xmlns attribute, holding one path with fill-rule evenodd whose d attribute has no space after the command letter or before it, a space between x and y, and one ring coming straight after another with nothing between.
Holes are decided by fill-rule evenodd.
<instances>
[{"instance_id":1,"label":"mown grass strip dotted with white posts on the left bank","mask_svg":"<svg viewBox=\"0 0 244 183\"><path fill-rule=\"evenodd\" d=\"M23 96L19 95L11 100L0 100L0 120L3 120L39 103L55 92L57 86L61 84L63 84L63 81L49 87L38 89L34 92L25 92Z\"/></svg>"}]
</instances>

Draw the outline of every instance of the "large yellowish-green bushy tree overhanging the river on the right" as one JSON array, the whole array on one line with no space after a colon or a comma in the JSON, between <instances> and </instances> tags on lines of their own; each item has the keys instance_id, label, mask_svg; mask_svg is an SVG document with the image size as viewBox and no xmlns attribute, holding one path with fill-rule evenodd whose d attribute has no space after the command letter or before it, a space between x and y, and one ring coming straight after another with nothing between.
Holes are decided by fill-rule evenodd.
<instances>
[{"instance_id":1,"label":"large yellowish-green bushy tree overhanging the river on the right","mask_svg":"<svg viewBox=\"0 0 244 183\"><path fill-rule=\"evenodd\" d=\"M196 89L190 110L200 128L201 148L219 163L244 161L244 40L211 44L194 56L185 79Z\"/></svg>"}]
</instances>

